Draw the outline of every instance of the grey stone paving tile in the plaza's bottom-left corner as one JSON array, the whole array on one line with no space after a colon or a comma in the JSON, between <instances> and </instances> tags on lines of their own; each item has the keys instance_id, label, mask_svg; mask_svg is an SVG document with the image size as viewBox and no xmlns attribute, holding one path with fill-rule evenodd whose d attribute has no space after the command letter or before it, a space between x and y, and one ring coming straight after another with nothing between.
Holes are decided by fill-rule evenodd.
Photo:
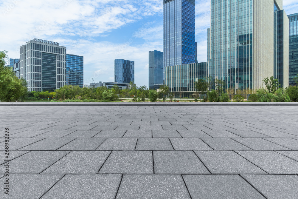
<instances>
[{"instance_id":1,"label":"grey stone paving tile in the plaza's bottom-left corner","mask_svg":"<svg viewBox=\"0 0 298 199\"><path fill-rule=\"evenodd\" d=\"M34 175L34 174L10 174L9 175L9 197L2 198L41 198L63 175ZM4 184L5 178L0 179Z\"/></svg>"}]
</instances>

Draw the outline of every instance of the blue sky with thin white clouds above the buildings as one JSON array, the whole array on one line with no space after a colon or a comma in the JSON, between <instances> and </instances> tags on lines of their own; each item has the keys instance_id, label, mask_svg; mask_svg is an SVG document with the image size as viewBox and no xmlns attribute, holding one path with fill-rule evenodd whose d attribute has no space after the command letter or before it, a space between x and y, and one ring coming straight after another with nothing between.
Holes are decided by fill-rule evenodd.
<instances>
[{"instance_id":1,"label":"blue sky with thin white clouds above the buildings","mask_svg":"<svg viewBox=\"0 0 298 199\"><path fill-rule=\"evenodd\" d=\"M263 1L263 0L262 0ZM267 1L267 0L266 0ZM114 82L114 59L135 62L135 83L148 87L148 51L162 51L162 0L1 0L0 51L20 58L20 46L39 38L84 56L84 84ZM297 0L283 0L287 14ZM210 0L196 0L198 62L207 61Z\"/></svg>"}]
</instances>

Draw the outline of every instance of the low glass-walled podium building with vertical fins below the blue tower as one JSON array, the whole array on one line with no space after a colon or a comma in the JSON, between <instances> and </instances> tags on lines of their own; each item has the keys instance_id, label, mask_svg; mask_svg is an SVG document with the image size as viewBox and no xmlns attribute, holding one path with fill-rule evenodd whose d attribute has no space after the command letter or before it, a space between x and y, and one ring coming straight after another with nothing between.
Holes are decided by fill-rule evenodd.
<instances>
[{"instance_id":1,"label":"low glass-walled podium building with vertical fins below the blue tower","mask_svg":"<svg viewBox=\"0 0 298 199\"><path fill-rule=\"evenodd\" d=\"M209 65L210 62L201 62L165 67L165 84L169 92L175 93L176 97L179 92L184 93L183 97L190 96L195 92L195 82L209 77Z\"/></svg>"}]
</instances>

